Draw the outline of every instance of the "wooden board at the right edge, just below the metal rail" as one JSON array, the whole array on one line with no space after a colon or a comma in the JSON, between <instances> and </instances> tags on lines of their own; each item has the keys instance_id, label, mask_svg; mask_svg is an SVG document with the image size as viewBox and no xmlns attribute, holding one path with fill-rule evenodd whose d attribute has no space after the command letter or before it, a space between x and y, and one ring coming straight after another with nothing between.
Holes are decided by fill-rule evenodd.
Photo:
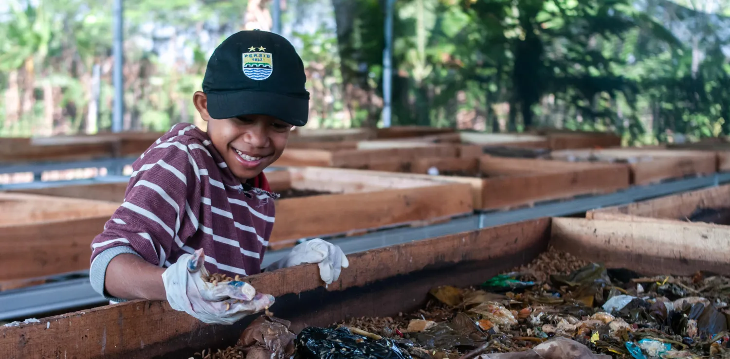
<instances>
[{"instance_id":1,"label":"wooden board at the right edge, just below the metal rail","mask_svg":"<svg viewBox=\"0 0 730 359\"><path fill-rule=\"evenodd\" d=\"M586 212L585 215L595 219L606 218L608 214L623 214L666 220L685 220L698 208L728 206L730 206L730 185L722 185L622 206L593 209Z\"/></svg>"}]
</instances>

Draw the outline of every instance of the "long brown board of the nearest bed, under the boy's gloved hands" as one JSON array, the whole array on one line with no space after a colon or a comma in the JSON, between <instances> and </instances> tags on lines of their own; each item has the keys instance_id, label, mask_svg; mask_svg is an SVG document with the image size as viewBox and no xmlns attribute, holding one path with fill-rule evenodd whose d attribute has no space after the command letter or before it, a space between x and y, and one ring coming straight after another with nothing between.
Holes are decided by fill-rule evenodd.
<instances>
[{"instance_id":1,"label":"long brown board of the nearest bed, under the boy's gloved hands","mask_svg":"<svg viewBox=\"0 0 730 359\"><path fill-rule=\"evenodd\" d=\"M348 256L350 266L342 271L337 282L328 286L323 296L332 293L331 298L339 298L339 293L350 288L456 263L496 268L502 258L510 255L522 256L523 263L527 263L533 258L529 252L546 247L549 233L550 220L544 218L356 253ZM258 291L277 298L321 290L323 285L315 264L258 274L246 280ZM472 276L474 284L481 280ZM369 306L382 310L385 299L371 301ZM285 311L280 305L274 304L272 311ZM347 309L347 303L340 305L328 308L335 314ZM393 305L403 307L407 303L399 301ZM289 312L293 309L297 308ZM307 306L301 306L295 312L306 311ZM333 320L325 314L331 313L312 312L320 321ZM185 347L220 346L226 340L235 340L243 324L206 325L184 312L174 311L163 301L130 301L49 317L41 323L0 327L0 352L8 358L19 359L150 358Z\"/></svg>"}]
</instances>

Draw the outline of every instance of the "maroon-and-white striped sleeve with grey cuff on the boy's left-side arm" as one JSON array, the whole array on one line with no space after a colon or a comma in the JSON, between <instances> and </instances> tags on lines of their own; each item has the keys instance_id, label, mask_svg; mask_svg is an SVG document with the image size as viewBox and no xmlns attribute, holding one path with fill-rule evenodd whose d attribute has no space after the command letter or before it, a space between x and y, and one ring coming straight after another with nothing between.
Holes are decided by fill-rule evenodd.
<instances>
[{"instance_id":1,"label":"maroon-and-white striped sleeve with grey cuff on the boy's left-side arm","mask_svg":"<svg viewBox=\"0 0 730 359\"><path fill-rule=\"evenodd\" d=\"M115 256L132 253L163 267L173 248L191 252L185 241L199 224L199 163L187 144L174 144L158 144L134 163L123 203L91 243L91 282L104 296L107 266Z\"/></svg>"}]
</instances>

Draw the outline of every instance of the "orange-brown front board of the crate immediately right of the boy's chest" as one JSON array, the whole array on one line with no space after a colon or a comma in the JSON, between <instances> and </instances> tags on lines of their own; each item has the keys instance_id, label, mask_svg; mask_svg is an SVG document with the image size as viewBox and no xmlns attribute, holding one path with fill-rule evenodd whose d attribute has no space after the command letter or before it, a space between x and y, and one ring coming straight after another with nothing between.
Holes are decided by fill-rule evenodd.
<instances>
[{"instance_id":1,"label":"orange-brown front board of the crate immediately right of the boy's chest","mask_svg":"<svg viewBox=\"0 0 730 359\"><path fill-rule=\"evenodd\" d=\"M431 185L369 193L284 198L269 247L291 247L302 238L465 215L474 211L467 185Z\"/></svg>"}]
</instances>

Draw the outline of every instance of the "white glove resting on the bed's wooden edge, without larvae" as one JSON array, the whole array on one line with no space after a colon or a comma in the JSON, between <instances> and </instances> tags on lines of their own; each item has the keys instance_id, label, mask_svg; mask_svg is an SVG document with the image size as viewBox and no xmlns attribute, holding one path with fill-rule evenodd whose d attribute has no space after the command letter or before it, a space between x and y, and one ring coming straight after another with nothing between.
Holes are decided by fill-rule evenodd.
<instances>
[{"instance_id":1,"label":"white glove resting on the bed's wooden edge, without larvae","mask_svg":"<svg viewBox=\"0 0 730 359\"><path fill-rule=\"evenodd\" d=\"M297 244L286 257L266 267L266 271L298 266L301 263L318 263L320 277L327 284L331 284L339 278L342 268L350 266L345 253L339 247L316 238Z\"/></svg>"}]
</instances>

